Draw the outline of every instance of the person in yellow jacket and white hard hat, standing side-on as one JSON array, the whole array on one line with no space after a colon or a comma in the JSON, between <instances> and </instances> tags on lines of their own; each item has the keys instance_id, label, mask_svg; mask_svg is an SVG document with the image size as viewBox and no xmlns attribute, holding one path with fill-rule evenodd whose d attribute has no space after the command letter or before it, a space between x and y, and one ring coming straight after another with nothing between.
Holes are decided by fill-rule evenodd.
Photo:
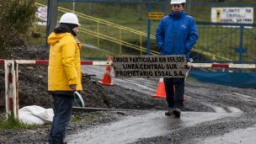
<instances>
[{"instance_id":1,"label":"person in yellow jacket and white hard hat, standing side-on","mask_svg":"<svg viewBox=\"0 0 256 144\"><path fill-rule=\"evenodd\" d=\"M80 43L76 39L79 22L74 13L64 13L60 24L48 37L50 47L48 91L54 99L54 117L49 143L63 143L72 115L74 92L82 90Z\"/></svg>"}]
</instances>

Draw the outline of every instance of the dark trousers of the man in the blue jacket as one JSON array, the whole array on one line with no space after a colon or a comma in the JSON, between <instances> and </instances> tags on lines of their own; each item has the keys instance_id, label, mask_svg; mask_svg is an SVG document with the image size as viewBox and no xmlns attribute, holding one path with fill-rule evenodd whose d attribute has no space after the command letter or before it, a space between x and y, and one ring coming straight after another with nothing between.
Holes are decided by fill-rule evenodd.
<instances>
[{"instance_id":1,"label":"dark trousers of the man in the blue jacket","mask_svg":"<svg viewBox=\"0 0 256 144\"><path fill-rule=\"evenodd\" d=\"M169 108L184 106L184 78L163 78Z\"/></svg>"}]
</instances>

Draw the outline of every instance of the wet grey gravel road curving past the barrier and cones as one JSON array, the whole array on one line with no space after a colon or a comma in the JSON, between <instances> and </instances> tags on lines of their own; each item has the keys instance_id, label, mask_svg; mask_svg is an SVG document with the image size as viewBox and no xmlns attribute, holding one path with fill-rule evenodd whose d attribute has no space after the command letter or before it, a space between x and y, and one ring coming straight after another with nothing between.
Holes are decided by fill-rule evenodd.
<instances>
[{"instance_id":1,"label":"wet grey gravel road curving past the barrier and cones","mask_svg":"<svg viewBox=\"0 0 256 144\"><path fill-rule=\"evenodd\" d=\"M84 67L101 78L104 67ZM129 78L113 82L148 94L157 79ZM136 93L136 92L135 92ZM67 136L71 143L254 143L256 141L256 89L231 88L187 81L185 109L181 118L164 115L163 110L127 116L108 125Z\"/></svg>"}]
</instances>

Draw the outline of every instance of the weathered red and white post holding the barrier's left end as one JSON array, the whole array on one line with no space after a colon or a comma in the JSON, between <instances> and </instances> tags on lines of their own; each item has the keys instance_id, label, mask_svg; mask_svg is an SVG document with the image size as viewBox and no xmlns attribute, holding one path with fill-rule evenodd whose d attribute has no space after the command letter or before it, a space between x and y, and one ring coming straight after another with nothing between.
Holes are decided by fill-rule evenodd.
<instances>
[{"instance_id":1,"label":"weathered red and white post holding the barrier's left end","mask_svg":"<svg viewBox=\"0 0 256 144\"><path fill-rule=\"evenodd\" d=\"M17 73L15 71L15 61L5 60L5 108L7 117L13 115L19 118L19 99L17 99Z\"/></svg>"}]
</instances>

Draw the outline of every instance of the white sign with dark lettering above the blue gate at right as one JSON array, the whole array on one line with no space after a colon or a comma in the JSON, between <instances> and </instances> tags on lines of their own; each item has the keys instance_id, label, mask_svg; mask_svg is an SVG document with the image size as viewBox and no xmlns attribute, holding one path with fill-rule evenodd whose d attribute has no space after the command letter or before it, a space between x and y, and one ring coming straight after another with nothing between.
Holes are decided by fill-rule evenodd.
<instances>
[{"instance_id":1,"label":"white sign with dark lettering above the blue gate at right","mask_svg":"<svg viewBox=\"0 0 256 144\"><path fill-rule=\"evenodd\" d=\"M211 22L253 24L253 8L211 8Z\"/></svg>"}]
</instances>

